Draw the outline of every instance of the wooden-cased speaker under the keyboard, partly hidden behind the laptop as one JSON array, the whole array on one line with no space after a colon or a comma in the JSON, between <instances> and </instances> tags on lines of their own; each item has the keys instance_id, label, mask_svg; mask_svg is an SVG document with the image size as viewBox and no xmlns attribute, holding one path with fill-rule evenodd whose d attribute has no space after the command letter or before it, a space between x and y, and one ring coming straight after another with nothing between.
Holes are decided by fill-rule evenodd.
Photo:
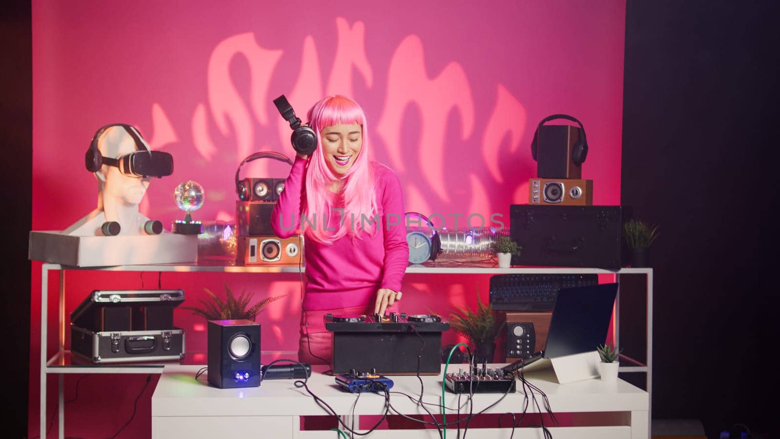
<instances>
[{"instance_id":1,"label":"wooden-cased speaker under the keyboard, partly hidden behind the laptop","mask_svg":"<svg viewBox=\"0 0 780 439\"><path fill-rule=\"evenodd\" d=\"M544 349L552 312L506 313L506 362Z\"/></svg>"}]
</instances>

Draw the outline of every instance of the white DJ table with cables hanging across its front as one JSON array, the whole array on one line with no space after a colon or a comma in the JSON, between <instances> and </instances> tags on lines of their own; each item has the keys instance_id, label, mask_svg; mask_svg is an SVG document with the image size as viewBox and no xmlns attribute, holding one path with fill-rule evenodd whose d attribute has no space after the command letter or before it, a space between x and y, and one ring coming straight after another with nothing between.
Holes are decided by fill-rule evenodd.
<instances>
[{"instance_id":1,"label":"white DJ table with cables hanging across its front","mask_svg":"<svg viewBox=\"0 0 780 439\"><path fill-rule=\"evenodd\" d=\"M457 366L449 366L448 372L456 372ZM496 365L503 366L503 365ZM214 438L214 437L275 437L275 438L338 438L343 437L332 430L301 430L300 416L327 415L324 409L303 388L294 386L294 380L266 380L260 387L238 389L219 389L206 382L206 373L198 380L195 375L203 366L165 366L160 381L151 400L152 437L154 439ZM360 416L381 415L385 412L384 394L363 393L356 403L356 394L342 391L334 377L324 375L325 367L314 366L308 387L319 398L346 420L347 425L360 425ZM442 371L444 366L442 366ZM415 376L392 376L393 391L402 391L417 398L420 394L420 381ZM441 403L441 374L423 376L423 402ZM555 413L566 413L567 425L549 427L555 439L648 439L650 426L648 409L650 398L641 390L623 380L614 382L590 379L569 384L558 384L551 370L527 373L527 380L539 387L548 396L551 409ZM461 395L461 404L468 395ZM458 394L445 392L445 415L448 422L456 419ZM480 412L494 404L502 394L475 394L473 412ZM517 391L506 394L501 402L485 411L486 413L523 412L526 395L517 383ZM541 405L541 394L537 394ZM391 393L393 407L406 415L425 415L424 411L410 398L402 394ZM427 405L434 414L441 409ZM451 410L452 409L452 410ZM467 412L461 409L461 414ZM537 413L529 405L528 413ZM542 408L544 412L544 408ZM517 415L516 415L517 416ZM509 425L510 416L505 416L502 425ZM465 425L465 423L463 423ZM463 427L463 425L461 427ZM366 437L405 439L439 437L438 431L419 430L374 430ZM340 427L340 426L339 426ZM346 437L350 437L346 431ZM456 426L445 432L456 437ZM519 427L512 432L511 427L469 427L473 437L497 438L538 438L544 435L540 428Z\"/></svg>"}]
</instances>

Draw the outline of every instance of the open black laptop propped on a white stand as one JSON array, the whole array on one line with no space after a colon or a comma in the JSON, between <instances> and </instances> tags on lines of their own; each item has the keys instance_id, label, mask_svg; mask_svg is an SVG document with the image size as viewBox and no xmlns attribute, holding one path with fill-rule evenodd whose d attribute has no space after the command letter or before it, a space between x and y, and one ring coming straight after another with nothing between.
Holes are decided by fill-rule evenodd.
<instances>
[{"instance_id":1,"label":"open black laptop propped on a white stand","mask_svg":"<svg viewBox=\"0 0 780 439\"><path fill-rule=\"evenodd\" d=\"M544 351L502 367L505 372L544 369L550 359L595 351L607 339L618 284L561 288L552 310Z\"/></svg>"}]
</instances>

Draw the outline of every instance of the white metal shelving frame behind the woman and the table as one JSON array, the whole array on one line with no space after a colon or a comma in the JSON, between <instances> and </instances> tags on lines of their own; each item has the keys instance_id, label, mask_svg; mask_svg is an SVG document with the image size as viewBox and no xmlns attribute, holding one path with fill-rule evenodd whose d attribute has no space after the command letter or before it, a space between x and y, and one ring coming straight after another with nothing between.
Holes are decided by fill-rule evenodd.
<instances>
[{"instance_id":1,"label":"white metal shelving frame behind the woman and the table","mask_svg":"<svg viewBox=\"0 0 780 439\"><path fill-rule=\"evenodd\" d=\"M137 362L122 363L111 365L97 365L88 360L82 360L73 355L65 348L65 337L67 322L65 310L65 282L66 271L117 271L117 272L176 272L176 273L300 273L305 271L304 267L297 265L289 266L235 266L225 261L201 262L200 264L162 264L162 265L139 265L139 266L105 266L105 267L76 267L62 266L59 264L44 263L41 266L41 437L45 437L46 432L46 377L48 374L57 374L58 382L58 411L59 411L59 433L58 437L64 437L64 374L66 373L161 373L164 366L168 364L186 364L186 359L182 362ZM50 271L59 273L59 299L58 299L58 350L55 355L48 357L48 274ZM406 269L408 275L417 274L505 274L505 273L527 273L527 274L564 274L564 273L582 273L582 274L608 274L615 275L615 280L619 282L619 277L623 274L644 275L647 279L647 326L646 330L646 348L647 362L639 362L635 359L621 355L621 366L619 371L622 373L646 373L647 374L647 394L652 402L652 334L653 334L653 270L650 268L624 268L619 270L596 269L596 268L569 268L569 267L512 267L497 268L493 262L456 262L456 261L438 261L425 262L423 265L413 265ZM618 292L617 303L615 304L615 344L619 346L619 301L620 292ZM186 357L189 358L189 355ZM622 365L626 366L622 366ZM648 416L650 411L648 410ZM648 419L649 422L649 419Z\"/></svg>"}]
</instances>

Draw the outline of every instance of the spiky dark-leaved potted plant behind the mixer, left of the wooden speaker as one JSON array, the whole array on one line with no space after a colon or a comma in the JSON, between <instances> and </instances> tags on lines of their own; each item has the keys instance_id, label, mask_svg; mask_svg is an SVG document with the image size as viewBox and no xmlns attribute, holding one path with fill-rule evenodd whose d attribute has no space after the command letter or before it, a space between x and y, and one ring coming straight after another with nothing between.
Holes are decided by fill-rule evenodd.
<instances>
[{"instance_id":1,"label":"spiky dark-leaved potted plant behind the mixer, left of the wooden speaker","mask_svg":"<svg viewBox=\"0 0 780 439\"><path fill-rule=\"evenodd\" d=\"M456 334L468 338L474 344L477 362L493 362L495 338L501 333L505 320L493 311L490 303L485 305L477 291L477 311L468 306L459 307L450 314L449 324Z\"/></svg>"}]
</instances>

